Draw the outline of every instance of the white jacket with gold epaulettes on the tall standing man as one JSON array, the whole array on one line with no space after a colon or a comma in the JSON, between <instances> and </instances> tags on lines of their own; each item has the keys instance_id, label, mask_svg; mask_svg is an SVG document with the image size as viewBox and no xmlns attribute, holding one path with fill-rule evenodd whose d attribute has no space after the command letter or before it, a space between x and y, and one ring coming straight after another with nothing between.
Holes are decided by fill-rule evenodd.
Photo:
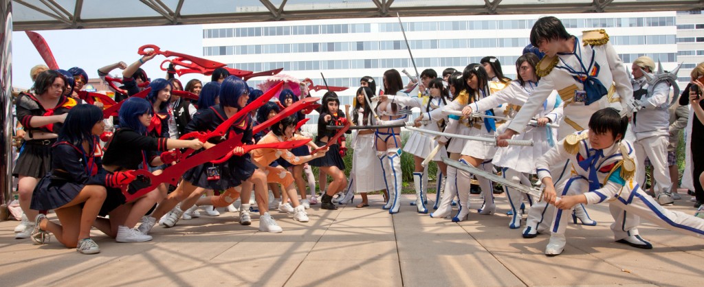
<instances>
[{"instance_id":1,"label":"white jacket with gold epaulettes on the tall standing man","mask_svg":"<svg viewBox=\"0 0 704 287\"><path fill-rule=\"evenodd\" d=\"M593 30L584 32L582 38L582 41L574 38L574 54L545 56L538 63L536 70L542 77L540 84L508 125L509 129L518 133L524 132L529 120L536 115L553 89L558 91L560 98L565 102L565 117L560 122L558 138L586 129L589 117L597 110L608 107L622 110L627 106L627 100L633 96L633 89L625 65L608 43L608 35L604 30ZM586 46L582 45L582 42ZM584 90L584 84L579 82L577 74L570 69L596 75L608 90L608 94L586 106L581 101L582 97L575 94L575 91Z\"/></svg>"}]
</instances>

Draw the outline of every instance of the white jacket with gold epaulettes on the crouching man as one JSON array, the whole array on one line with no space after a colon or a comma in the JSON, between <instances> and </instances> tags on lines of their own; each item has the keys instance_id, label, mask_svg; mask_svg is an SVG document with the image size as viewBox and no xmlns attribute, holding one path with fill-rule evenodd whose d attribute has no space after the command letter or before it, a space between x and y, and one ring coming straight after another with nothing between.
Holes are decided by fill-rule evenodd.
<instances>
[{"instance_id":1,"label":"white jacket with gold epaulettes on the crouching man","mask_svg":"<svg viewBox=\"0 0 704 287\"><path fill-rule=\"evenodd\" d=\"M601 152L601 155L596 155ZM593 157L593 158L590 158ZM588 204L601 203L620 194L626 186L629 191L636 188L632 181L636 170L635 153L628 141L620 141L603 150L595 150L589 144L589 130L575 132L565 137L536 162L538 177L552 177L549 167L570 160L570 177L583 177L590 183L584 193ZM594 184L596 188L592 188ZM565 186L568 188L568 186Z\"/></svg>"}]
</instances>

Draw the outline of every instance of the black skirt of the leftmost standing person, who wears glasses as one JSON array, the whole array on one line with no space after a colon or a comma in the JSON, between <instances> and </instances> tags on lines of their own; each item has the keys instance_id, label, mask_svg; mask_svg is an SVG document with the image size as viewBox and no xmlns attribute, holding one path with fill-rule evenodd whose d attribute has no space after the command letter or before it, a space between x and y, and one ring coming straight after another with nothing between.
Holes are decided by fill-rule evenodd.
<instances>
[{"instance_id":1,"label":"black skirt of the leftmost standing person, who wears glasses","mask_svg":"<svg viewBox=\"0 0 704 287\"><path fill-rule=\"evenodd\" d=\"M41 179L51 171L51 146L56 139L25 141L12 171L13 177Z\"/></svg>"}]
</instances>

